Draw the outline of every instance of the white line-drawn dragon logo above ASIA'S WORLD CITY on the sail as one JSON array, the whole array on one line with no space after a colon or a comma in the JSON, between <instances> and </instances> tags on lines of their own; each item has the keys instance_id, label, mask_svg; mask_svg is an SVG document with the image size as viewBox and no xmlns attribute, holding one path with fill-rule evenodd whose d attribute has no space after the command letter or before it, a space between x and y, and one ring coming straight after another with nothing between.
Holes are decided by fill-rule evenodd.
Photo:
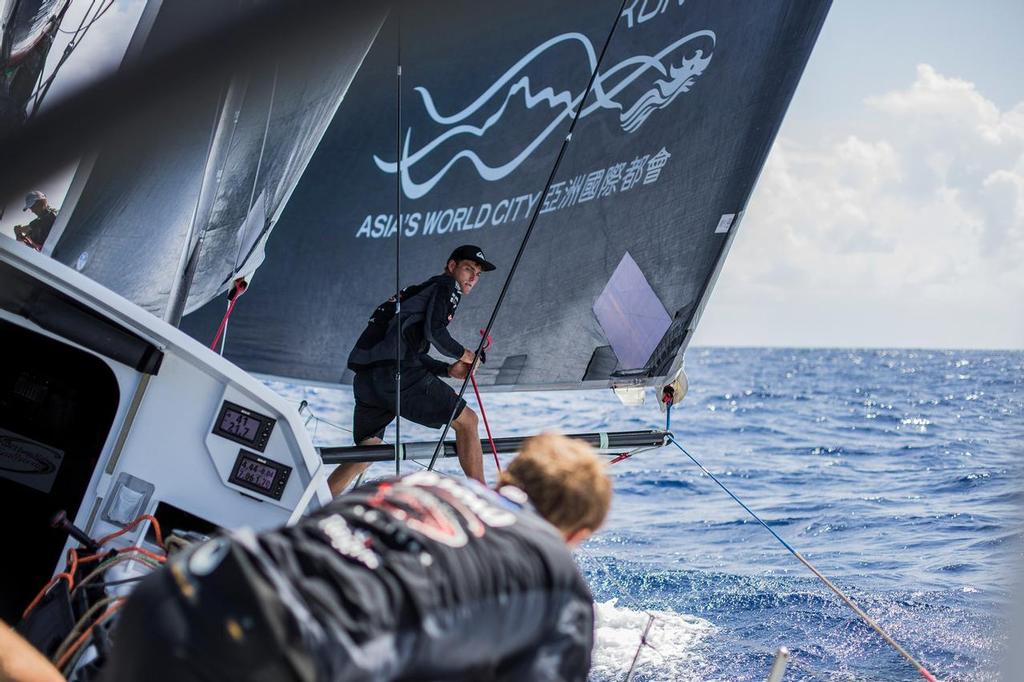
<instances>
[{"instance_id":1,"label":"white line-drawn dragon logo above ASIA'S WORLD CITY on the sail","mask_svg":"<svg viewBox=\"0 0 1024 682\"><path fill-rule=\"evenodd\" d=\"M715 44L713 31L697 31L673 41L654 54L636 54L598 71L591 90L592 101L583 106L580 118L600 111L615 112L621 129L627 134L635 133L654 112L669 106L679 95L690 91L711 63ZM425 114L439 131L414 150L412 127L407 128L400 169L398 163L375 155L377 167L389 174L400 172L402 193L410 199L429 194L463 160L471 164L483 180L494 182L507 177L568 123L587 94L556 91L552 85L538 85L526 73L530 65L551 58L553 50L564 50L566 47L582 51L590 73L597 70L597 55L590 39L581 33L564 33L524 54L459 111L442 113L427 88L415 88ZM537 129L524 139L498 145L504 151L505 158L485 161L479 151L485 138L497 136L505 142L503 133L509 126L518 127L515 124L521 124L506 121L512 118L509 113L516 110L514 105L520 100L527 112L547 106L552 116L541 125L535 123ZM421 167L429 170L421 171Z\"/></svg>"}]
</instances>

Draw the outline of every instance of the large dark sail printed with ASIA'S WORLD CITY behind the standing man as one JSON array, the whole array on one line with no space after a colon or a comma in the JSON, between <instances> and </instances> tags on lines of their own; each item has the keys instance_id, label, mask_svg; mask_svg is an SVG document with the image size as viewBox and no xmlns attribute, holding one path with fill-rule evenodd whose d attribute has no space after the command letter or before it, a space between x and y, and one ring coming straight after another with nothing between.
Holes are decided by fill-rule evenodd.
<instances>
[{"instance_id":1,"label":"large dark sail printed with ASIA'S WORLD CITY behind the standing man","mask_svg":"<svg viewBox=\"0 0 1024 682\"><path fill-rule=\"evenodd\" d=\"M433 2L392 14L267 243L226 356L264 375L350 380L348 351L394 291L400 180L402 285L439 272L465 243L499 265L453 322L467 346L540 206L481 385L671 374L828 5L636 0L618 16L607 1ZM183 327L209 340L222 313L215 301Z\"/></svg>"}]
</instances>

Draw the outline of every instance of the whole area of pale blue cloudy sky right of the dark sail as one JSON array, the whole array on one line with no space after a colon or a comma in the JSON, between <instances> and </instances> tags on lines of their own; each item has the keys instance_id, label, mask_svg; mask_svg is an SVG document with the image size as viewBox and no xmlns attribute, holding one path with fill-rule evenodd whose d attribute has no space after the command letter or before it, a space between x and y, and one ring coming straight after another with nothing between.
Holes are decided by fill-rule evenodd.
<instances>
[{"instance_id":1,"label":"whole area of pale blue cloudy sky right of the dark sail","mask_svg":"<svg viewBox=\"0 0 1024 682\"><path fill-rule=\"evenodd\" d=\"M1022 27L838 0L694 343L1024 348Z\"/></svg>"}]
</instances>

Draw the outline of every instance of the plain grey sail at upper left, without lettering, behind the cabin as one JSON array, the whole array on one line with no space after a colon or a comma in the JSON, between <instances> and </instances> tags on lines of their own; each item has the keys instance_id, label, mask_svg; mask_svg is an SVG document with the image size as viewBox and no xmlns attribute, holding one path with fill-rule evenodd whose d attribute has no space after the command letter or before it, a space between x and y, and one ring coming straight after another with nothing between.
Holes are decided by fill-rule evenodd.
<instances>
[{"instance_id":1,"label":"plain grey sail at upper left, without lettering, behind the cabin","mask_svg":"<svg viewBox=\"0 0 1024 682\"><path fill-rule=\"evenodd\" d=\"M250 6L259 3L151 3L132 58L211 24L229 31ZM267 45L230 72L210 65L172 106L135 117L84 158L53 257L160 316L227 288L259 261L385 15L353 10L337 40Z\"/></svg>"}]
</instances>

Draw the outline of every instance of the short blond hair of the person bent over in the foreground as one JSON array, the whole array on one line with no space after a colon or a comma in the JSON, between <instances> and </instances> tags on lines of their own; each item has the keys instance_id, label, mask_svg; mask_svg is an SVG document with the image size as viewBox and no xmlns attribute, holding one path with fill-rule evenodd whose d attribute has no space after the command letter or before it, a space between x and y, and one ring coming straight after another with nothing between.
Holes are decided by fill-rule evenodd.
<instances>
[{"instance_id":1,"label":"short blond hair of the person bent over in the foreground","mask_svg":"<svg viewBox=\"0 0 1024 682\"><path fill-rule=\"evenodd\" d=\"M541 516L567 535L597 530L611 505L611 481L594 449L556 433L526 440L498 480L520 488Z\"/></svg>"}]
</instances>

